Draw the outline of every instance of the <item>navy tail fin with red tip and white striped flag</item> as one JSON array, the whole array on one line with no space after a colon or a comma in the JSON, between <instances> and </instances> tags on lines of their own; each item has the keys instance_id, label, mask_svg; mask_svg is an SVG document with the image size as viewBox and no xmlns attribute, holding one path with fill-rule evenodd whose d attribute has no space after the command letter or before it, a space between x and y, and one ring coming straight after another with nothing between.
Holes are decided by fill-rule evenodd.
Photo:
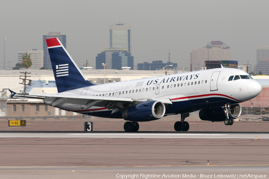
<instances>
[{"instance_id":1,"label":"navy tail fin with red tip and white striped flag","mask_svg":"<svg viewBox=\"0 0 269 179\"><path fill-rule=\"evenodd\" d=\"M46 39L58 92L92 86L58 38Z\"/></svg>"}]
</instances>

